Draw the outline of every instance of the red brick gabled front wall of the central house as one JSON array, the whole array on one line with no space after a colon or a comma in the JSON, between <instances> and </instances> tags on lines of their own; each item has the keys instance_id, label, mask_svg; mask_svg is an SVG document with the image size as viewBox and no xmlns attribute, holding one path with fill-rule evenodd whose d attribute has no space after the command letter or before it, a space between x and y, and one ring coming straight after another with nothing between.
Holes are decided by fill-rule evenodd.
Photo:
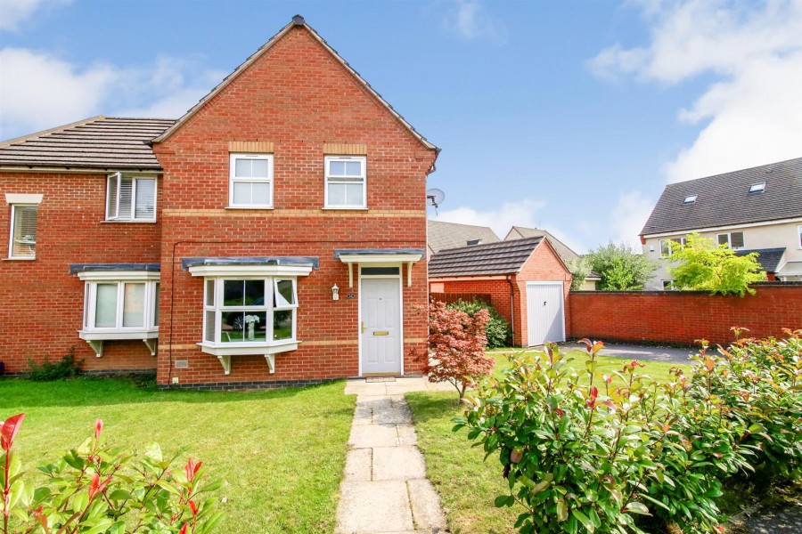
<instances>
[{"instance_id":1,"label":"red brick gabled front wall of the central house","mask_svg":"<svg viewBox=\"0 0 802 534\"><path fill-rule=\"evenodd\" d=\"M270 142L274 209L231 210L229 142ZM367 211L323 209L327 143L364 144ZM165 169L161 241L159 382L306 380L356 376L356 282L333 259L338 248L426 248L426 176L434 161L395 117L327 53L305 28L293 28L166 142L154 146ZM233 356L224 376L215 356L201 352L202 279L181 271L193 256L320 258L320 270L299 277L299 349L275 356ZM426 263L404 267L405 372L408 356L426 346ZM339 301L331 286L340 287ZM345 295L355 294L348 299ZM189 368L175 368L187 360Z\"/></svg>"}]
</instances>

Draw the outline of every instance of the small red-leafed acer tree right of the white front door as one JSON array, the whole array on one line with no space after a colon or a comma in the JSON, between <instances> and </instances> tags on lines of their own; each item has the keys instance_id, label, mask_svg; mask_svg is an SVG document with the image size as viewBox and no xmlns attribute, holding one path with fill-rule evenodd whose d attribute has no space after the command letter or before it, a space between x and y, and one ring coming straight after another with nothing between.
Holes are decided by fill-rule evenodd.
<instances>
[{"instance_id":1,"label":"small red-leafed acer tree right of the white front door","mask_svg":"<svg viewBox=\"0 0 802 534\"><path fill-rule=\"evenodd\" d=\"M489 321L487 310L471 317L449 310L445 303L430 301L429 352L415 354L430 382L453 384L462 400L468 387L493 371L495 360L485 354Z\"/></svg>"}]
</instances>

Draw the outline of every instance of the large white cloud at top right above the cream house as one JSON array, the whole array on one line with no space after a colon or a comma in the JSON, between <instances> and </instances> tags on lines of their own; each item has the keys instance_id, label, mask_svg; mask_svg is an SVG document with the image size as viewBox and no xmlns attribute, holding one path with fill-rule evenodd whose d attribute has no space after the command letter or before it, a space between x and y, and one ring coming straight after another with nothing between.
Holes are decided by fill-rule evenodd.
<instances>
[{"instance_id":1,"label":"large white cloud at top right above the cream house","mask_svg":"<svg viewBox=\"0 0 802 534\"><path fill-rule=\"evenodd\" d=\"M590 68L662 85L713 81L683 123L708 121L664 171L680 182L802 156L802 1L641 2L651 43L614 44Z\"/></svg>"}]
</instances>

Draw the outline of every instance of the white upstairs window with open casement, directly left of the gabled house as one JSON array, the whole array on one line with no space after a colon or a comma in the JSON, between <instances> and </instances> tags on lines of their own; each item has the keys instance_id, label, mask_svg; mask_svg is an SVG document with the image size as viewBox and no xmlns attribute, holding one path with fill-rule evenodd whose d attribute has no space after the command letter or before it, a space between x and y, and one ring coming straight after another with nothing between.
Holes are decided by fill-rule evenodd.
<instances>
[{"instance_id":1,"label":"white upstairs window with open casement, directly left of the gabled house","mask_svg":"<svg viewBox=\"0 0 802 534\"><path fill-rule=\"evenodd\" d=\"M156 221L156 179L115 173L106 188L106 220Z\"/></svg>"}]
</instances>

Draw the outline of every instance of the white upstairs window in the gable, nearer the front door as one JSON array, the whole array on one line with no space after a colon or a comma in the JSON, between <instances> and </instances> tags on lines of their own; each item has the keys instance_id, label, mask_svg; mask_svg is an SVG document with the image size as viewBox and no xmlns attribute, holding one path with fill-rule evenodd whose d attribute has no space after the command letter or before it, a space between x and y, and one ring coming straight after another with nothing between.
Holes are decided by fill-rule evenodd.
<instances>
[{"instance_id":1,"label":"white upstairs window in the gable, nearer the front door","mask_svg":"<svg viewBox=\"0 0 802 534\"><path fill-rule=\"evenodd\" d=\"M360 209L367 207L367 179L364 156L327 156L325 166L325 207Z\"/></svg>"}]
</instances>

